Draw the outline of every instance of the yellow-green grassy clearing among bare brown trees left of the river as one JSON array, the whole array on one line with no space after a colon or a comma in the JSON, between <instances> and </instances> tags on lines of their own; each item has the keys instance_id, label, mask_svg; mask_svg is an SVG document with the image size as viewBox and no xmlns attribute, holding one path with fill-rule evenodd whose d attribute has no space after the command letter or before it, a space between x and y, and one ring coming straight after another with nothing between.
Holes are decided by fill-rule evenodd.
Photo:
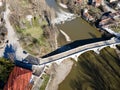
<instances>
[{"instance_id":1,"label":"yellow-green grassy clearing among bare brown trees left of the river","mask_svg":"<svg viewBox=\"0 0 120 90\"><path fill-rule=\"evenodd\" d=\"M33 55L38 55L40 47L42 48L48 48L48 42L46 41L45 37L43 36L43 25L47 25L47 22L41 21L39 23L40 17L37 17L36 19L32 19L32 23L28 22L27 20L23 20L25 22L24 29L20 29L18 26L16 26L16 30L20 37L23 39L21 40L22 47L27 50L29 53ZM25 41L27 39L27 41ZM29 44L27 44L29 42Z\"/></svg>"}]
</instances>

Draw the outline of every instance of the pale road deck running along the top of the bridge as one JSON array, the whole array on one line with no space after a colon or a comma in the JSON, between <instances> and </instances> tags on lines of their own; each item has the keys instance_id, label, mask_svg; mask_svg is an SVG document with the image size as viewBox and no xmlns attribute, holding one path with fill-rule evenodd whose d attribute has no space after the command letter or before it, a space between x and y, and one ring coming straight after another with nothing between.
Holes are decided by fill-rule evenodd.
<instances>
[{"instance_id":1,"label":"pale road deck running along the top of the bridge","mask_svg":"<svg viewBox=\"0 0 120 90\"><path fill-rule=\"evenodd\" d=\"M86 44L86 45L77 47L75 49L71 49L71 50L68 50L66 52L50 56L48 58L43 58L43 59L41 59L40 64L51 63L53 61L57 61L59 59L71 56L73 54L76 54L76 53L79 53L79 52L82 52L82 51L85 51L85 50L88 50L88 49L93 49L94 50L94 48L97 48L97 47L99 48L101 46L108 46L108 45L116 44L116 43L120 44L119 41L116 41L115 39L112 38L111 40L107 40L107 41L100 41L100 42L96 42L96 43Z\"/></svg>"}]
</instances>

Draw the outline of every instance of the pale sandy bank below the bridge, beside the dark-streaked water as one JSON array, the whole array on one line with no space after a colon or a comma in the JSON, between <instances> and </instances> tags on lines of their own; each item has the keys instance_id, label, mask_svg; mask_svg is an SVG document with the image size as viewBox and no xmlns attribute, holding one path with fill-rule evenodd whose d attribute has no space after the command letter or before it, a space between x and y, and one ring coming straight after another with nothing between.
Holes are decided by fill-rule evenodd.
<instances>
[{"instance_id":1,"label":"pale sandy bank below the bridge, beside the dark-streaked water","mask_svg":"<svg viewBox=\"0 0 120 90\"><path fill-rule=\"evenodd\" d=\"M64 60L60 65L52 65L51 78L48 82L46 90L57 90L58 85L65 79L72 69L73 61L70 59Z\"/></svg>"}]
</instances>

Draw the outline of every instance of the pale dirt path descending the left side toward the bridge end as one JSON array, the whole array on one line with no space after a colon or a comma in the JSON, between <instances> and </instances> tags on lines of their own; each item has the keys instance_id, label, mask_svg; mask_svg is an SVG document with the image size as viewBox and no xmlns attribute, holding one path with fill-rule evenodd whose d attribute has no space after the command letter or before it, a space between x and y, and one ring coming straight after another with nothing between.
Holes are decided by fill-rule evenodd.
<instances>
[{"instance_id":1,"label":"pale dirt path descending the left side toward the bridge end","mask_svg":"<svg viewBox=\"0 0 120 90\"><path fill-rule=\"evenodd\" d=\"M17 38L16 33L12 25L10 24L9 14L10 14L9 5L6 4L6 11L4 12L4 20L5 20L5 27L8 30L8 36L7 36L7 39L9 40L8 45L12 45L13 48L16 49L16 52L15 52L16 58L18 60L22 60L22 58L25 58L28 55L23 53L23 49L20 46L20 43L18 41L19 39Z\"/></svg>"}]
</instances>

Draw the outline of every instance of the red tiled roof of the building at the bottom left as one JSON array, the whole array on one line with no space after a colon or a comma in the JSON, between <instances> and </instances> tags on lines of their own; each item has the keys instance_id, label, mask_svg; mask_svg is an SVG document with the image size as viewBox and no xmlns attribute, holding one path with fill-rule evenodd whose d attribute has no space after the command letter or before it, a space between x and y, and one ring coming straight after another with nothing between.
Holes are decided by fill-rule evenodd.
<instances>
[{"instance_id":1,"label":"red tiled roof of the building at the bottom left","mask_svg":"<svg viewBox=\"0 0 120 90\"><path fill-rule=\"evenodd\" d=\"M32 72L30 70L14 67L4 90L29 90L26 88L29 85L31 76Z\"/></svg>"}]
</instances>

